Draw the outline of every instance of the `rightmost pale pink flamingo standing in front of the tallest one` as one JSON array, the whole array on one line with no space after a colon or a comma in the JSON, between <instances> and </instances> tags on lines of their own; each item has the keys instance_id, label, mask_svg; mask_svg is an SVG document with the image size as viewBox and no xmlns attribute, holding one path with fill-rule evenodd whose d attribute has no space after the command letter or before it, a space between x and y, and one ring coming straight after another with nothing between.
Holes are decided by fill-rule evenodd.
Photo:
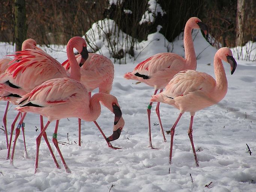
<instances>
[{"instance_id":1,"label":"rightmost pale pink flamingo standing in front of the tallest one","mask_svg":"<svg viewBox=\"0 0 256 192\"><path fill-rule=\"evenodd\" d=\"M227 78L221 60L228 62L231 66L231 75L235 72L236 61L229 48L220 48L214 57L214 72L216 81L204 72L185 70L176 74L167 84L162 93L153 95L151 102L163 102L180 111L179 117L171 128L171 147L169 163L172 161L172 146L175 127L185 112L190 112L190 126L188 136L192 145L196 166L198 165L196 151L193 143L192 124L196 111L217 104L227 93Z\"/></svg>"}]
</instances>

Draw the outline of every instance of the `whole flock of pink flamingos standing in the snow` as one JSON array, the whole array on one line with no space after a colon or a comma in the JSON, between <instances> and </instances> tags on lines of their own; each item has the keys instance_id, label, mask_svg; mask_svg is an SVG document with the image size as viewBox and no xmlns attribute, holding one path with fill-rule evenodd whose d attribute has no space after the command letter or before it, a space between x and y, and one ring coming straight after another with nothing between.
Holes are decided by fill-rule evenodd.
<instances>
[{"instance_id":1,"label":"whole flock of pink flamingos standing in the snow","mask_svg":"<svg viewBox=\"0 0 256 192\"><path fill-rule=\"evenodd\" d=\"M171 52L155 54L139 63L133 70L124 75L126 79L137 80L155 88L154 95L148 105L149 147L154 149L151 142L151 108L153 102L157 102L156 113L160 122L163 139L163 126L160 118L160 102L172 105L180 111L180 114L171 128L170 156L172 160L172 145L175 127L185 112L190 112L191 119L188 136L191 141L196 166L199 166L193 143L192 124L196 111L209 107L221 101L227 93L227 78L223 63L227 62L231 67L231 74L236 69L236 61L229 48L218 49L214 57L215 79L210 75L195 71L197 62L194 51L192 29L201 29L208 37L208 27L197 17L190 18L184 30L185 58ZM78 55L73 49L77 49ZM51 121L56 120L56 127L52 141L60 155L66 172L71 172L62 156L57 142L58 124L61 118L78 118L78 144L81 145L81 119L93 121L107 141L108 147L113 147L110 141L119 138L125 124L122 111L117 98L110 94L114 79L114 65L111 60L103 55L88 53L86 42L82 37L72 37L66 47L68 60L60 64L53 57L36 46L33 39L23 42L22 50L15 52L13 59L2 58L0 60L0 100L8 101L3 118L6 134L8 153L6 159L13 164L15 144L23 130L24 147L24 118L26 114L36 113L40 115L41 132L36 138L35 173L38 169L39 145L42 136L50 150L54 163L60 168L50 143L47 139L46 129ZM99 93L91 95L92 90L99 88ZM157 94L158 90L160 91ZM8 140L6 128L6 115L9 102L17 105L18 114L11 126L11 135ZM113 134L108 138L102 132L96 119L101 114L101 105L114 113ZM68 109L68 110L67 110ZM15 130L15 138L10 157L11 141L15 124L21 117ZM44 125L43 117L47 117ZM26 154L26 153L25 153Z\"/></svg>"}]
</instances>

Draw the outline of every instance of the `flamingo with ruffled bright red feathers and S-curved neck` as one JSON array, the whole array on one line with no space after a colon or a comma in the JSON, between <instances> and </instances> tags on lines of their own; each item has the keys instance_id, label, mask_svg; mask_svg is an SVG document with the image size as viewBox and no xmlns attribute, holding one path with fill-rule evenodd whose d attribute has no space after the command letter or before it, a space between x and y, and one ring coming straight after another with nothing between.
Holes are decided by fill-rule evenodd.
<instances>
[{"instance_id":1,"label":"flamingo with ruffled bright red feathers and S-curved neck","mask_svg":"<svg viewBox=\"0 0 256 192\"><path fill-rule=\"evenodd\" d=\"M6 70L4 74L0 75L0 91L6 90L12 94L16 94L21 97L22 95L30 93L36 86L53 78L70 77L80 81L80 67L75 60L73 48L76 48L78 52L81 53L82 58L80 61L81 62L80 65L83 65L83 63L88 57L88 51L86 47L86 42L82 37L72 37L67 44L68 58L69 60L73 61L70 64L71 72L69 76L66 73L65 68L57 60L55 60L53 57L48 55L46 52L44 52L40 48L36 46L33 46L33 48L34 49L17 51L15 55L12 55L14 56L14 60L12 60L11 62L12 65ZM18 117L15 118L15 122L17 121L17 118ZM42 121L42 117L40 118L41 118L41 129L42 129L43 121ZM11 138L12 138L12 133L14 131L15 122L12 125L11 136L10 136ZM16 137L18 137L20 134L20 126L21 125L18 124L18 127L16 128L15 141L17 140ZM48 139L46 134L44 134L44 138L50 149L50 144L48 144ZM13 147L12 156L11 156L11 163L14 157L15 144L16 143L14 142L14 147ZM9 142L8 154L6 159L9 159L10 148L11 148L11 142ZM52 156L54 156L53 153L51 154ZM56 159L54 159L54 162L56 163L56 166L59 167L57 165Z\"/></svg>"}]
</instances>

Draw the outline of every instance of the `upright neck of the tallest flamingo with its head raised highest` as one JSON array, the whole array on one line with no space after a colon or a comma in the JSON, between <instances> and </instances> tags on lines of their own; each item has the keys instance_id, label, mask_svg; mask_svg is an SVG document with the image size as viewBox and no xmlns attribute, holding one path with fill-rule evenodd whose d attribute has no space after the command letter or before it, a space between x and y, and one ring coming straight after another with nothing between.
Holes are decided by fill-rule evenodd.
<instances>
[{"instance_id":1,"label":"upright neck of the tallest flamingo with its head raised highest","mask_svg":"<svg viewBox=\"0 0 256 192\"><path fill-rule=\"evenodd\" d=\"M196 70L196 52L194 49L191 33L192 33L192 27L186 24L185 30L184 30L185 59L188 62L188 66L190 66L190 69Z\"/></svg>"}]
</instances>

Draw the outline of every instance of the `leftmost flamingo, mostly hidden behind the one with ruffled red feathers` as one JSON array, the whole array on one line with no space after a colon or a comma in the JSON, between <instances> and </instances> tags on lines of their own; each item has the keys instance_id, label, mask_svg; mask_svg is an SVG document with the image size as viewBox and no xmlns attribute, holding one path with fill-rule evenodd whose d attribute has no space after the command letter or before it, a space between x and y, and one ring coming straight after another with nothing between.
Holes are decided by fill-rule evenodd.
<instances>
[{"instance_id":1,"label":"leftmost flamingo, mostly hidden behind the one with ruffled red feathers","mask_svg":"<svg viewBox=\"0 0 256 192\"><path fill-rule=\"evenodd\" d=\"M34 39L26 39L22 43L21 50L33 49L33 45L36 46L36 41ZM0 59L0 74L3 74L6 71L6 69L10 66L9 63L11 61L12 61L11 58L2 58L2 59ZM9 146L9 141L8 141L7 127L6 127L6 124L7 124L6 116L7 116L7 111L8 111L8 108L9 108L10 101L15 103L16 99L17 98L15 98L15 95L13 95L9 92L5 92L5 91L0 92L0 101L1 100L7 101L5 114L3 116L3 124L4 124L4 128L5 128L5 137L6 137L6 146L7 146L7 148ZM23 127L23 129L24 129L24 127ZM24 135L24 132L23 132L23 135ZM25 143L24 143L24 145L25 145Z\"/></svg>"}]
</instances>

